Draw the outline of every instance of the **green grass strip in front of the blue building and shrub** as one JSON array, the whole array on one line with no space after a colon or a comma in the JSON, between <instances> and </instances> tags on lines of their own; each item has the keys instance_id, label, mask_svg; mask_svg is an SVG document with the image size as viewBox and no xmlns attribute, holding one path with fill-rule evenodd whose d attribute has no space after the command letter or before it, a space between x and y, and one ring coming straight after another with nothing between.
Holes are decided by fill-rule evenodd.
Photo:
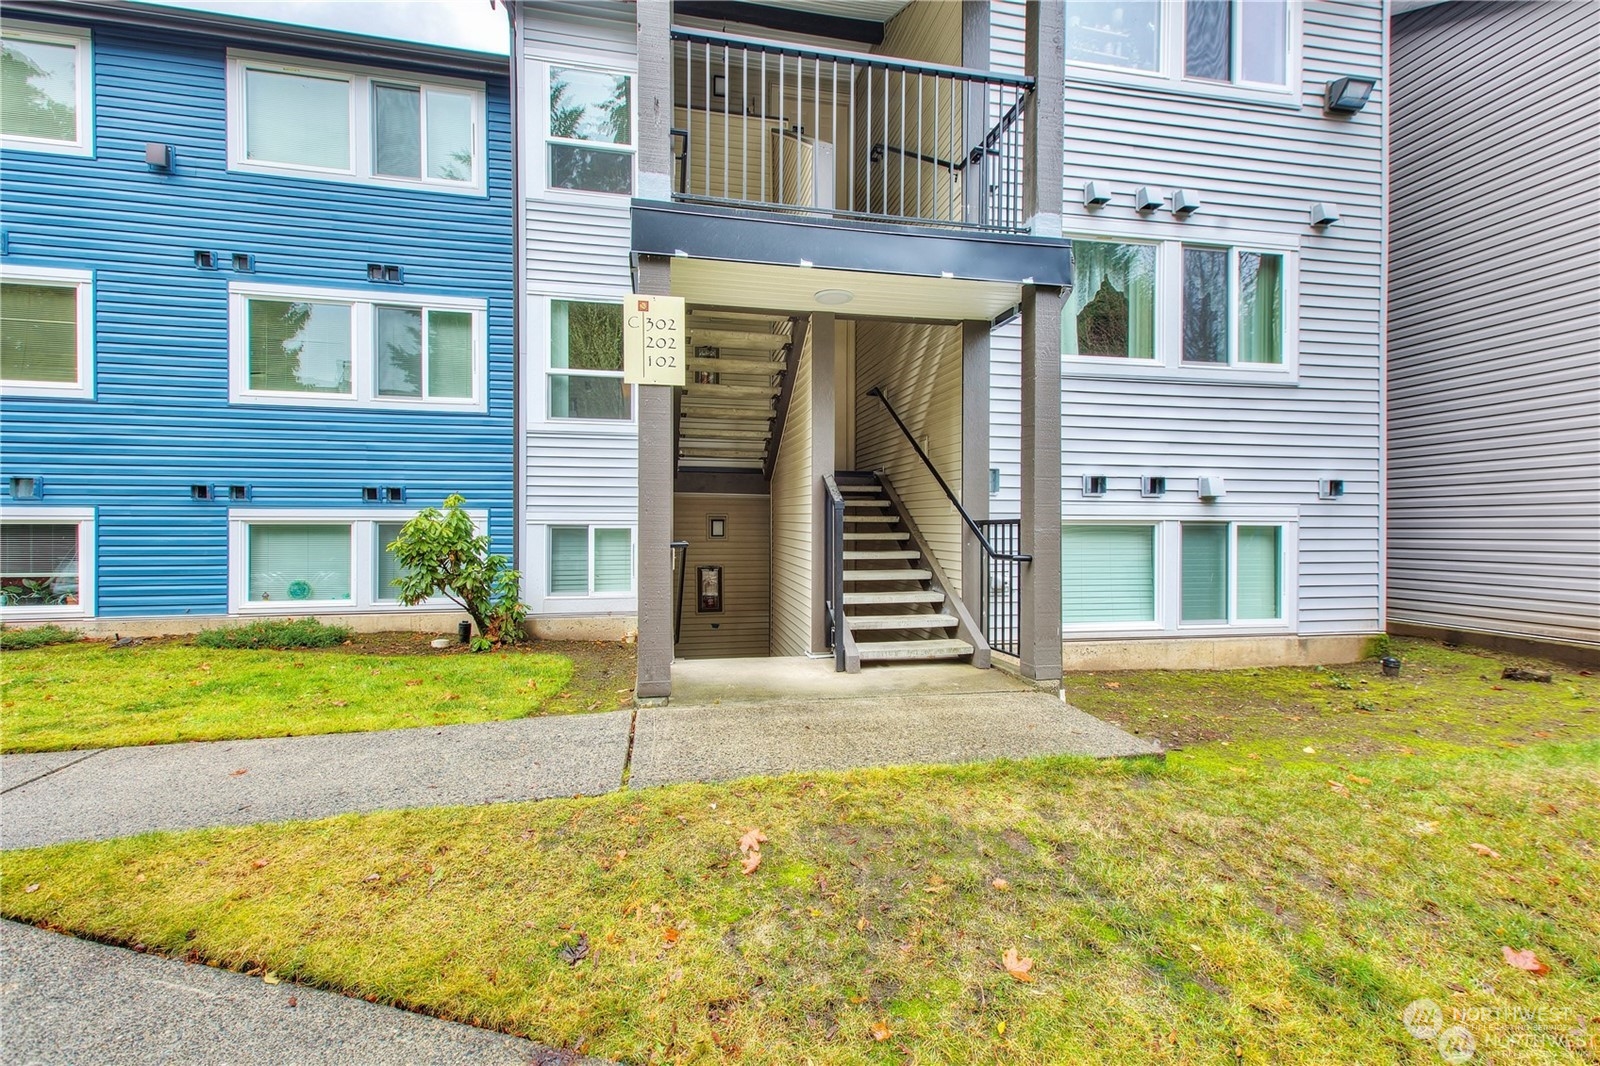
<instances>
[{"instance_id":1,"label":"green grass strip in front of the blue building and shrub","mask_svg":"<svg viewBox=\"0 0 1600 1066\"><path fill-rule=\"evenodd\" d=\"M245 651L152 640L0 656L0 749L64 751L302 736L610 711L634 680L619 645L429 653L424 637ZM598 651L597 651L598 648ZM574 666L576 663L576 666Z\"/></svg>"}]
</instances>

